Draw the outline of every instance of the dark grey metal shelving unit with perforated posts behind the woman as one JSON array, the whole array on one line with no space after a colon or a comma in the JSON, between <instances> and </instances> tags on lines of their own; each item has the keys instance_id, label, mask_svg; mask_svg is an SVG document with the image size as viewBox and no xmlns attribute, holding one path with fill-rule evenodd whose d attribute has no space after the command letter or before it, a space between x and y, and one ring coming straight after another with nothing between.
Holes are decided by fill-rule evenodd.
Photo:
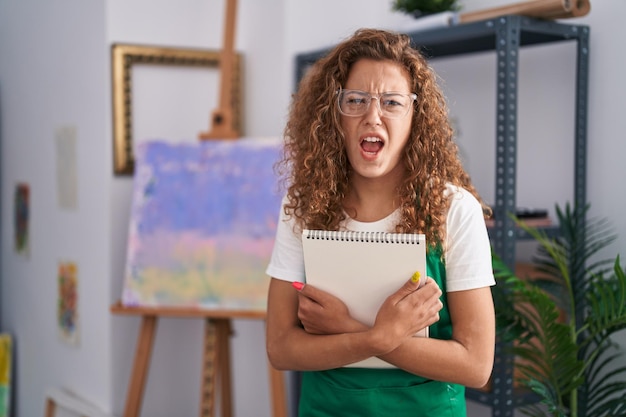
<instances>
[{"instance_id":1,"label":"dark grey metal shelving unit with perforated posts behind the woman","mask_svg":"<svg viewBox=\"0 0 626 417\"><path fill-rule=\"evenodd\" d=\"M515 227L507 213L516 209L517 102L519 49L524 46L571 41L577 44L575 103L574 204L586 204L587 89L589 76L589 27L511 15L480 22L408 33L429 59L494 51L496 53L496 184L495 225L490 229L495 252L514 270L515 247L528 236ZM296 82L307 66L329 49L296 57ZM297 87L297 86L296 86ZM555 227L548 233L557 233ZM515 389L511 355L496 345L492 390L468 389L467 398L488 405L493 417L513 417L515 408L534 397Z\"/></svg>"}]
</instances>

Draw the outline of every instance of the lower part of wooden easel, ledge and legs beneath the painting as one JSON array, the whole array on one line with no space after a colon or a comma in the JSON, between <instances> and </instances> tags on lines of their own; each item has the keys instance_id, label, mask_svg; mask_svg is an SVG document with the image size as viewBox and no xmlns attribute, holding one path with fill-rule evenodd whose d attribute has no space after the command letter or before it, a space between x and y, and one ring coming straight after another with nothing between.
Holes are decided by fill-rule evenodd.
<instances>
[{"instance_id":1,"label":"lower part of wooden easel, ledge and legs beneath the painting","mask_svg":"<svg viewBox=\"0 0 626 417\"><path fill-rule=\"evenodd\" d=\"M263 320L265 319L264 312L203 310L191 307L126 307L119 302L111 306L111 312L142 317L135 361L128 384L124 417L139 417L159 317L201 318L205 320L199 415L200 417L214 416L215 391L219 386L222 417L233 416L230 375L231 320L237 318ZM272 416L287 417L284 375L270 364L268 366Z\"/></svg>"}]
</instances>

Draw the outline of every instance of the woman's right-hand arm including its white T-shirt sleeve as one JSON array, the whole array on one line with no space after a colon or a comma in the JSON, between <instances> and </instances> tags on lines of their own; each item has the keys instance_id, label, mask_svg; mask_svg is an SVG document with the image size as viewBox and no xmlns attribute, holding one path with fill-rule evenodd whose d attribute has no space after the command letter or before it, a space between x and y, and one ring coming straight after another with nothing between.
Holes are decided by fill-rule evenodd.
<instances>
[{"instance_id":1,"label":"woman's right-hand arm including its white T-shirt sleeve","mask_svg":"<svg viewBox=\"0 0 626 417\"><path fill-rule=\"evenodd\" d=\"M484 386L493 368L495 284L482 207L467 190L450 187L445 258L452 339L412 338L382 359L427 378Z\"/></svg>"}]
</instances>

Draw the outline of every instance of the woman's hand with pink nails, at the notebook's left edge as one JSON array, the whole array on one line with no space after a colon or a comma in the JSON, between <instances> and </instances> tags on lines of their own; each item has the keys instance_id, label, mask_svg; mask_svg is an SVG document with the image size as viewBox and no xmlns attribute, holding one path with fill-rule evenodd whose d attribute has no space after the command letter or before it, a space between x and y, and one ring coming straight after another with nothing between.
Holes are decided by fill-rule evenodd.
<instances>
[{"instance_id":1,"label":"woman's hand with pink nails, at the notebook's left edge","mask_svg":"<svg viewBox=\"0 0 626 417\"><path fill-rule=\"evenodd\" d=\"M298 319L307 333L340 334L367 329L350 316L339 298L301 282L294 282L293 286L298 290Z\"/></svg>"}]
</instances>

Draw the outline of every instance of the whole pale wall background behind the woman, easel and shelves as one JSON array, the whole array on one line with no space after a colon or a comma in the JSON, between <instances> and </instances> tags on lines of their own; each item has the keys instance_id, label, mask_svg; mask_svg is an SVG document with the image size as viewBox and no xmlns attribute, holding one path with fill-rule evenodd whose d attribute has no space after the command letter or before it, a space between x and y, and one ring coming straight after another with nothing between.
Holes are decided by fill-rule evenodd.
<instances>
[{"instance_id":1,"label":"whole pale wall background behind the woman, easel and shelves","mask_svg":"<svg viewBox=\"0 0 626 417\"><path fill-rule=\"evenodd\" d=\"M467 11L506 3L463 2ZM588 199L592 214L608 217L619 234L607 254L612 256L626 248L626 219L620 210L626 201L618 185L626 177L620 164L626 154L621 138L626 120L620 114L626 107L620 76L626 57L618 54L624 32L619 16L626 13L626 3L604 0L592 7L589 16L569 22L591 26ZM223 14L223 0L0 0L0 320L1 330L16 337L16 416L43 415L43 393L50 386L67 386L104 410L122 414L139 320L109 313L123 285L132 187L130 177L112 174L109 47L120 42L218 49ZM399 28L408 22L390 11L388 1L239 1L236 48L244 55L244 133L280 135L296 53L332 45L361 26ZM565 178L571 158L559 156L560 146L569 152L572 130L572 59L567 45L523 52L520 158L525 167L538 168L520 168L520 175L539 172L542 187L520 178L521 204L552 208L554 201L571 199ZM471 151L478 148L472 142L477 138L492 146L493 63L487 55L434 63L458 120L470 170L487 197L493 170ZM197 129L207 126L211 110L206 109L207 119ZM164 117L176 120L178 115ZM54 132L68 125L76 126L78 136L79 204L73 211L58 208L55 194ZM180 127L192 132L184 137L196 129L188 125ZM32 194L29 258L13 251L13 192L20 181L30 184ZM79 265L78 348L61 344L55 334L55 273L63 258ZM161 321L142 416L197 414L201 332L200 321ZM239 416L270 415L263 338L260 322L235 322Z\"/></svg>"}]
</instances>

